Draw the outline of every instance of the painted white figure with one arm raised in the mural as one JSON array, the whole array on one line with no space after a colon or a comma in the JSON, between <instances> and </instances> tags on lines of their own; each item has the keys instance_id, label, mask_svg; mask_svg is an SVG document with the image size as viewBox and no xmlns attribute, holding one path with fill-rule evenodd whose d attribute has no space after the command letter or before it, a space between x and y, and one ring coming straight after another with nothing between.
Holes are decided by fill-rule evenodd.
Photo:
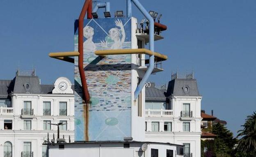
<instances>
[{"instance_id":1,"label":"painted white figure with one arm raised in the mural","mask_svg":"<svg viewBox=\"0 0 256 157\"><path fill-rule=\"evenodd\" d=\"M117 19L115 21L115 24L117 27L120 27L120 29L118 28L112 28L108 31L109 35L105 38L106 42L101 41L101 46L103 47L108 47L108 44L112 44L112 46L110 47L110 49L122 49L123 48L123 43L125 40L125 31L124 31L124 27L123 27L123 22L119 19ZM120 39L120 36L122 36L122 38Z\"/></svg>"}]
</instances>

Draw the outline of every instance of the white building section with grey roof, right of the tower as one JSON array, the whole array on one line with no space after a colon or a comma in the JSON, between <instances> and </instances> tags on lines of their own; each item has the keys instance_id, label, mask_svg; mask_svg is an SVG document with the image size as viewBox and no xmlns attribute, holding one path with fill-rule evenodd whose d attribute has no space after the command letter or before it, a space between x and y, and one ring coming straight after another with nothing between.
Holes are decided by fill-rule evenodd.
<instances>
[{"instance_id":1,"label":"white building section with grey roof, right of the tower","mask_svg":"<svg viewBox=\"0 0 256 157\"><path fill-rule=\"evenodd\" d=\"M167 89L146 88L145 139L184 145L184 157L201 156L201 99L195 79L174 79Z\"/></svg>"}]
</instances>

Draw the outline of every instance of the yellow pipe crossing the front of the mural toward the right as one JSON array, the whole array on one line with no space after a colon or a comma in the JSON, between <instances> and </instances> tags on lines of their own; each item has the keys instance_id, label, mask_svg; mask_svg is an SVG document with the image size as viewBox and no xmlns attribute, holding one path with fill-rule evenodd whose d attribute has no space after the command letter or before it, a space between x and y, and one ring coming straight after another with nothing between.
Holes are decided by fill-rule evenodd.
<instances>
[{"instance_id":1,"label":"yellow pipe crossing the front of the mural toward the right","mask_svg":"<svg viewBox=\"0 0 256 157\"><path fill-rule=\"evenodd\" d=\"M167 60L167 55L161 53L152 52L148 49L117 49L117 50L97 50L95 55L123 55L123 54L146 54L149 56L154 55L157 61Z\"/></svg>"}]
</instances>

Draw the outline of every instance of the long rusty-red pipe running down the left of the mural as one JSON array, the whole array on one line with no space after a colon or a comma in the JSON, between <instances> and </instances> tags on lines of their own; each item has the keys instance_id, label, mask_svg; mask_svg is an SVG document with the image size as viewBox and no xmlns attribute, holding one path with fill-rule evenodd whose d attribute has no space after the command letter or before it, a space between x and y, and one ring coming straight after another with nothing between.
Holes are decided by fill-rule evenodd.
<instances>
[{"instance_id":1,"label":"long rusty-red pipe running down the left of the mural","mask_svg":"<svg viewBox=\"0 0 256 157\"><path fill-rule=\"evenodd\" d=\"M90 95L87 87L87 82L86 82L86 77L85 77L85 71L84 71L84 37L83 37L83 28L84 28L84 18L87 10L90 11L90 4L91 0L85 0L84 6L82 7L82 11L80 13L79 19L78 19L78 69L79 69L79 74L81 78L81 83L82 83L82 90L83 90L83 100L85 101L86 104L89 104L90 100ZM88 11L87 13L87 18L90 17L91 13Z\"/></svg>"}]
</instances>

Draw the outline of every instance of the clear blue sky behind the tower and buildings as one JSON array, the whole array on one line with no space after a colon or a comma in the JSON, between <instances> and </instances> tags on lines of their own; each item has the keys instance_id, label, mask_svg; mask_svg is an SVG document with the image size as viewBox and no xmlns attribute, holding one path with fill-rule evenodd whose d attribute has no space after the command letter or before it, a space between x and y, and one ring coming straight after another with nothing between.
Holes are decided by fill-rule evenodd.
<instances>
[{"instance_id":1,"label":"clear blue sky behind the tower and buildings","mask_svg":"<svg viewBox=\"0 0 256 157\"><path fill-rule=\"evenodd\" d=\"M109 0L111 13L126 10L126 0ZM164 72L151 81L165 83L171 71L194 69L202 109L228 122L235 135L256 110L255 0L140 0L162 13ZM74 20L84 0L0 0L0 79L12 79L18 65L35 66L43 84L59 76L73 80L73 65L48 57L73 51ZM99 14L102 14L99 13ZM133 7L133 15L138 15ZM137 17L142 17L141 15Z\"/></svg>"}]
</instances>

